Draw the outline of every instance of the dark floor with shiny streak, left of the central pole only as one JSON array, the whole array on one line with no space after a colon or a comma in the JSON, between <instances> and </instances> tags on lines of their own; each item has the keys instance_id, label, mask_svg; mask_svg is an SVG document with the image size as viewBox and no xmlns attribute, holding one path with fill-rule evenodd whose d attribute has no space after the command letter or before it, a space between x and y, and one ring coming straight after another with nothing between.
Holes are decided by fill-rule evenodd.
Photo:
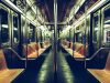
<instances>
[{"instance_id":1,"label":"dark floor with shiny streak, left of the central pole only","mask_svg":"<svg viewBox=\"0 0 110 83\"><path fill-rule=\"evenodd\" d=\"M36 68L34 70L26 70L14 83L54 83L53 51L51 50L50 53L43 53L38 58Z\"/></svg>"}]
</instances>

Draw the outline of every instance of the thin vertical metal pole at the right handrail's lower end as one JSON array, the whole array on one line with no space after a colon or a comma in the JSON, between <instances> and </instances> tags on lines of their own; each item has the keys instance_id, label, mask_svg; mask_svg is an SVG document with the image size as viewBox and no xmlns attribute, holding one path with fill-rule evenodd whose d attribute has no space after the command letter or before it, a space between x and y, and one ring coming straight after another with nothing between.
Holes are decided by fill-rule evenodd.
<instances>
[{"instance_id":1,"label":"thin vertical metal pole at the right handrail's lower end","mask_svg":"<svg viewBox=\"0 0 110 83\"><path fill-rule=\"evenodd\" d=\"M87 30L87 2L85 4L85 48L84 48L84 55L85 55L85 69L86 69L86 30Z\"/></svg>"}]
</instances>

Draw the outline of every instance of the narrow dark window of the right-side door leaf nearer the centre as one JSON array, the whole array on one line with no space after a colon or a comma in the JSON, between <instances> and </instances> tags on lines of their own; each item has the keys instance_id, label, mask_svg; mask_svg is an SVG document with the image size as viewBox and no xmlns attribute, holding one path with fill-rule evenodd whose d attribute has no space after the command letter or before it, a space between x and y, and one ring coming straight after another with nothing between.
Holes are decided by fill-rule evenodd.
<instances>
[{"instance_id":1,"label":"narrow dark window of the right-side door leaf nearer the centre","mask_svg":"<svg viewBox=\"0 0 110 83\"><path fill-rule=\"evenodd\" d=\"M94 42L98 41L98 14L94 17Z\"/></svg>"}]
</instances>

